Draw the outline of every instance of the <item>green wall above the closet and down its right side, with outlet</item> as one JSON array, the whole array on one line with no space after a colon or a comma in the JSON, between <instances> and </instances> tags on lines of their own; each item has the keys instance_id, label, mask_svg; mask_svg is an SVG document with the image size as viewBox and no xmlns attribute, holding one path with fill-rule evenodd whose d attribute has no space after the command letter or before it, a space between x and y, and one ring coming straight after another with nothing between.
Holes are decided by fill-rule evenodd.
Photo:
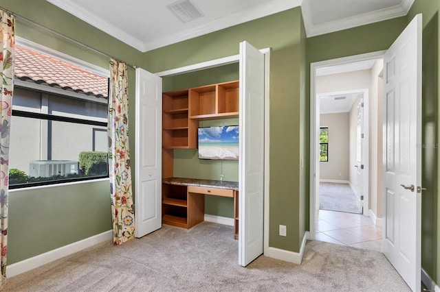
<instances>
[{"instance_id":1,"label":"green wall above the closet and down its right side, with outlet","mask_svg":"<svg viewBox=\"0 0 440 292\"><path fill-rule=\"evenodd\" d=\"M145 53L147 70L159 72L239 53L239 42L271 48L270 56L270 246L298 252L304 230L300 197L300 8L236 25ZM190 154L188 154L190 155ZM195 155L195 152L192 154ZM176 163L176 162L175 162ZM224 165L223 165L224 167ZM175 175L177 173L175 172ZM303 192L303 193L300 193ZM303 217L308 216L303 214ZM278 225L287 236L278 236Z\"/></svg>"}]
</instances>

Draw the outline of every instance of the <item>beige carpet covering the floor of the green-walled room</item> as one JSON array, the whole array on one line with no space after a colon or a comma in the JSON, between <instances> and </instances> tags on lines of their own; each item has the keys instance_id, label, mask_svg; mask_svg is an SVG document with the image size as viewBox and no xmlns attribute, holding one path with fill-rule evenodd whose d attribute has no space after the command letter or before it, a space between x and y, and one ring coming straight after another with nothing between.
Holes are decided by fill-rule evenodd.
<instances>
[{"instance_id":1,"label":"beige carpet covering the floor of the green-walled room","mask_svg":"<svg viewBox=\"0 0 440 292\"><path fill-rule=\"evenodd\" d=\"M237 264L233 228L203 222L105 243L8 279L4 291L410 291L380 252L308 241L301 265Z\"/></svg>"}]
</instances>

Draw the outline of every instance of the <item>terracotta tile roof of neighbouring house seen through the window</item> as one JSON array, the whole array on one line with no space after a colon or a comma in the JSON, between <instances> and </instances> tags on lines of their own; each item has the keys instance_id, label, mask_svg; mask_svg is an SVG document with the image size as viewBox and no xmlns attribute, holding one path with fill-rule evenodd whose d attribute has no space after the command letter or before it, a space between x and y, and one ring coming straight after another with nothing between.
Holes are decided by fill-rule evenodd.
<instances>
[{"instance_id":1,"label":"terracotta tile roof of neighbouring house seen through the window","mask_svg":"<svg viewBox=\"0 0 440 292\"><path fill-rule=\"evenodd\" d=\"M85 95L108 96L107 77L19 45L15 46L15 77Z\"/></svg>"}]
</instances>

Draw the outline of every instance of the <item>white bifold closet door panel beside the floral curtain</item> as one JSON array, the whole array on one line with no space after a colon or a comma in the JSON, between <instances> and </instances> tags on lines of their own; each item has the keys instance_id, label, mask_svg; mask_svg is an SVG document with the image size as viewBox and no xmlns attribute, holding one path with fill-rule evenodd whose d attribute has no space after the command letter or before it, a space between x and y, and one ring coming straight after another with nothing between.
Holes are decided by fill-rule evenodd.
<instances>
[{"instance_id":1,"label":"white bifold closet door panel beside the floral curtain","mask_svg":"<svg viewBox=\"0 0 440 292\"><path fill-rule=\"evenodd\" d=\"M162 227L162 78L136 69L135 236Z\"/></svg>"}]
</instances>

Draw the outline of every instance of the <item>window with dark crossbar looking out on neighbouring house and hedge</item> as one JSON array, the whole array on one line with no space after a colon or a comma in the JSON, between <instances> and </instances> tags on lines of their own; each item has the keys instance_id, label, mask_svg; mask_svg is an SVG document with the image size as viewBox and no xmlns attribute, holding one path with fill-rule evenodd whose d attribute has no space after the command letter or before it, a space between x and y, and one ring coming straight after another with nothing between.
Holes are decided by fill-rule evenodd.
<instances>
[{"instance_id":1,"label":"window with dark crossbar looking out on neighbouring house and hedge","mask_svg":"<svg viewBox=\"0 0 440 292\"><path fill-rule=\"evenodd\" d=\"M108 77L49 57L16 47L10 188L108 177Z\"/></svg>"}]
</instances>

